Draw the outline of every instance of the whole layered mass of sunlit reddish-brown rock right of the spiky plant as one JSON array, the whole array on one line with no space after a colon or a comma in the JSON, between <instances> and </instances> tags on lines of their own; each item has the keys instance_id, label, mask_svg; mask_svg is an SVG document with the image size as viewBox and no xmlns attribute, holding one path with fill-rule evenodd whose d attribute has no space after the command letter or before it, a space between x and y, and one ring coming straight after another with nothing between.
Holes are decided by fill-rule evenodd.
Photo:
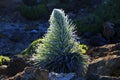
<instances>
[{"instance_id":1,"label":"whole layered mass of sunlit reddish-brown rock right of the spiky plant","mask_svg":"<svg viewBox=\"0 0 120 80\"><path fill-rule=\"evenodd\" d=\"M120 76L120 43L91 47L88 74Z\"/></svg>"}]
</instances>

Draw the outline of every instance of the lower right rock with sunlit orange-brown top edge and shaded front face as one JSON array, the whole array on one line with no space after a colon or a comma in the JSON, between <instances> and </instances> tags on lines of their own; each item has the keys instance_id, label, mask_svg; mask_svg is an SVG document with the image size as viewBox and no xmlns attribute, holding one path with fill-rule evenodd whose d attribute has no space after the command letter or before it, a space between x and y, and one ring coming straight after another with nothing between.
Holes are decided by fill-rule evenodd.
<instances>
[{"instance_id":1,"label":"lower right rock with sunlit orange-brown top edge and shaded front face","mask_svg":"<svg viewBox=\"0 0 120 80\"><path fill-rule=\"evenodd\" d=\"M116 70L120 69L120 56L110 55L94 59L88 69L88 74L98 74L112 76ZM117 73L118 74L118 73ZM119 75L120 76L120 75Z\"/></svg>"}]
</instances>

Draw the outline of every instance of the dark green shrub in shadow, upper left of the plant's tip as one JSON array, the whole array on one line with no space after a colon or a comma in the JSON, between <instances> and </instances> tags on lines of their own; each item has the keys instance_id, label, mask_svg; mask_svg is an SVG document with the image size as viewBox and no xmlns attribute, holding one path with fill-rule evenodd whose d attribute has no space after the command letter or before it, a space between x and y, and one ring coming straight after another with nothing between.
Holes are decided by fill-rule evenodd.
<instances>
[{"instance_id":1,"label":"dark green shrub in shadow, upper left of the plant's tip","mask_svg":"<svg viewBox=\"0 0 120 80\"><path fill-rule=\"evenodd\" d=\"M19 6L19 10L23 17L30 20L37 20L40 19L41 16L45 17L49 14L44 4L39 4L36 6L21 5Z\"/></svg>"}]
</instances>

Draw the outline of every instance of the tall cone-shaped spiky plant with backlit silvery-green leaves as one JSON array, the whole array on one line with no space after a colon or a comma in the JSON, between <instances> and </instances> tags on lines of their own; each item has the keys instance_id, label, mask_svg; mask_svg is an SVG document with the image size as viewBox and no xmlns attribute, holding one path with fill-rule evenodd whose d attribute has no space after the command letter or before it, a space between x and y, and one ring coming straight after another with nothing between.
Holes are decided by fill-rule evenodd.
<instances>
[{"instance_id":1,"label":"tall cone-shaped spiky plant with backlit silvery-green leaves","mask_svg":"<svg viewBox=\"0 0 120 80\"><path fill-rule=\"evenodd\" d=\"M64 11L54 9L50 17L50 27L38 48L39 65L50 71L75 72L84 76L87 63L75 39L72 22Z\"/></svg>"}]
</instances>

